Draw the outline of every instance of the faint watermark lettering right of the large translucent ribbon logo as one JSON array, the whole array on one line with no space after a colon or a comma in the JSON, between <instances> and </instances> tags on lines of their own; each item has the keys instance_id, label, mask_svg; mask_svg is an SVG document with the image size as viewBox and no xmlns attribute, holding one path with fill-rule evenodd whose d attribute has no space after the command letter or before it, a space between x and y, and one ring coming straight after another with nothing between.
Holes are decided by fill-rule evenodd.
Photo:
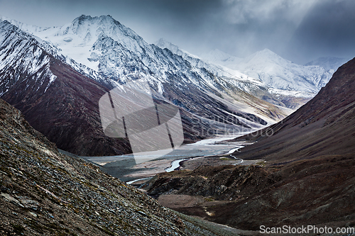
<instances>
[{"instance_id":1,"label":"faint watermark lettering right of the large translucent ribbon logo","mask_svg":"<svg viewBox=\"0 0 355 236\"><path fill-rule=\"evenodd\" d=\"M230 113L226 116L197 117L191 120L192 135L200 137L214 137L215 135L249 134L251 137L270 137L274 135L272 126L253 114ZM283 120L280 121L281 123Z\"/></svg>"}]
</instances>

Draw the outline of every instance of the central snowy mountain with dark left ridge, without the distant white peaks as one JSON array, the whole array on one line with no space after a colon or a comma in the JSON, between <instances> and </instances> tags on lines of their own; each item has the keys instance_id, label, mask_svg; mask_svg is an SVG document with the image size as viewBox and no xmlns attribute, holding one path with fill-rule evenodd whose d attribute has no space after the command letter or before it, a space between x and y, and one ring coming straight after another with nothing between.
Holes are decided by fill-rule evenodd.
<instances>
[{"instance_id":1,"label":"central snowy mountain with dark left ridge, without the distant white peaks","mask_svg":"<svg viewBox=\"0 0 355 236\"><path fill-rule=\"evenodd\" d=\"M222 78L192 67L111 16L80 16L62 28L17 23L28 33L9 21L0 24L1 98L62 150L83 156L131 152L128 140L104 135L98 108L105 92L126 82L138 87L140 81L148 82L156 101L179 106L187 142L207 137L204 130L209 128L222 134L253 130L288 113L241 91L263 92L260 82L240 73ZM193 119L199 122L194 125Z\"/></svg>"}]
</instances>

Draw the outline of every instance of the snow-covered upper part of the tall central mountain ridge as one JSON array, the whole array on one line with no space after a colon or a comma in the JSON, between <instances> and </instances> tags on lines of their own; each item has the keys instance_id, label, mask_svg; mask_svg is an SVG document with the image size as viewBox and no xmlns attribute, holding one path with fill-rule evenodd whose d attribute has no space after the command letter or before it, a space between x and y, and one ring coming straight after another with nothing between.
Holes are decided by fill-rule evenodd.
<instances>
[{"instance_id":1,"label":"snow-covered upper part of the tall central mountain ridge","mask_svg":"<svg viewBox=\"0 0 355 236\"><path fill-rule=\"evenodd\" d=\"M109 33L102 30L101 25L98 24L99 19L109 19L109 23L105 22L103 26L103 28L110 28ZM82 30L77 31L79 21ZM210 67L193 55L189 56L194 57L194 60L188 60L190 57L186 58L185 55L177 52L178 56L182 56L181 59L174 53L170 54L172 48L169 48L170 52L165 52L164 49L161 51L159 47L149 45L133 30L124 26L119 28L119 31L123 31L123 33L119 33L123 35L120 38L117 33L112 33L114 30L111 30L111 28L116 26L108 27L114 25L113 22L116 21L108 16L102 16L101 18L80 16L72 23L59 29L47 28L34 34L40 38L47 38L53 44L67 50L69 57L99 70L104 77L121 83L144 78L152 84L152 89L161 95L163 95L163 83L171 83L170 78L176 76L183 79L180 84L195 84L200 86L200 89L207 89L214 94L221 92L216 91L216 89L222 89L222 92L226 91L227 94L233 94L234 92L224 85L225 82L219 79L223 78L228 79L230 86L238 87L249 94L252 93L258 99L263 99L265 94L268 97L268 102L273 101L271 99L273 95L257 79L248 78L246 75L230 69ZM105 26L105 24L108 24L108 26ZM128 30L128 33L126 33L126 30ZM87 37L87 35L90 35L90 37ZM129 35L129 37L126 37L126 35ZM74 47L70 45L74 45ZM65 49L66 47L67 49ZM80 53L79 51L78 53L75 52L76 50L80 50ZM77 55L84 56L77 57ZM212 74L217 77L217 80L212 77ZM274 101L273 104L287 106L282 101Z\"/></svg>"}]
</instances>

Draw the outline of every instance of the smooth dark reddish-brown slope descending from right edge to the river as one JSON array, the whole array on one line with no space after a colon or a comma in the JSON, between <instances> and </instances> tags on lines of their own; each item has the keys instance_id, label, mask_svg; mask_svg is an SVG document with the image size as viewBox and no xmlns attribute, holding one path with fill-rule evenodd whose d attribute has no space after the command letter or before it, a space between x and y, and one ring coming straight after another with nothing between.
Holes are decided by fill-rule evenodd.
<instances>
[{"instance_id":1,"label":"smooth dark reddish-brown slope descending from right edge to the river","mask_svg":"<svg viewBox=\"0 0 355 236\"><path fill-rule=\"evenodd\" d=\"M282 122L272 125L269 131L263 130L273 132L271 137L246 137L258 140L258 144L246 147L244 157L263 156L272 162L290 162L355 152L354 68L354 59L339 67L314 99Z\"/></svg>"}]
</instances>

